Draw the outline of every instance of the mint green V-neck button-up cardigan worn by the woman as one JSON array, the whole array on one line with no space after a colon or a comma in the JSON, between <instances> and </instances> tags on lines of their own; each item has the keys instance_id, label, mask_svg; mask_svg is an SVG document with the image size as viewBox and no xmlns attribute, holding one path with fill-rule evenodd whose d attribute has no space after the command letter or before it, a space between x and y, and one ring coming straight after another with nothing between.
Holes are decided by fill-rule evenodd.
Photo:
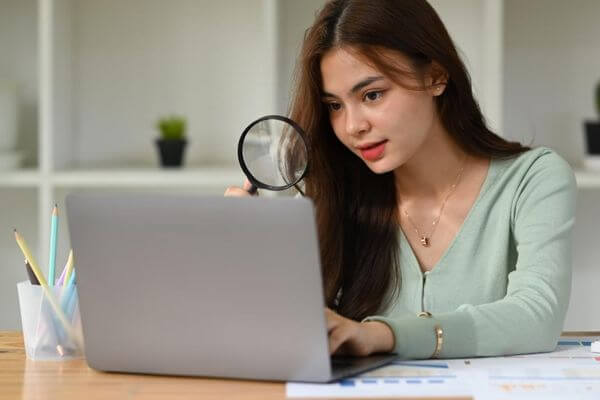
<instances>
[{"instance_id":1,"label":"mint green V-neck button-up cardigan worn by the woman","mask_svg":"<svg viewBox=\"0 0 600 400\"><path fill-rule=\"evenodd\" d=\"M550 351L562 331L571 289L576 182L554 151L536 148L493 159L456 237L422 273L401 232L399 294L381 315L395 352L429 358L435 325L440 357ZM417 317L429 311L432 318Z\"/></svg>"}]
</instances>

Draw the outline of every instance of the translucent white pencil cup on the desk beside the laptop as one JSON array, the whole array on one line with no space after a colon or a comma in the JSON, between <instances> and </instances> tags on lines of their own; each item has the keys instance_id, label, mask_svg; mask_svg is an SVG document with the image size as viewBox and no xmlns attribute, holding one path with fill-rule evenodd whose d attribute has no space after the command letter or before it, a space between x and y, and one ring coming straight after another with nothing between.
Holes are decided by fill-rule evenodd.
<instances>
[{"instance_id":1,"label":"translucent white pencil cup on the desk beside the laptop","mask_svg":"<svg viewBox=\"0 0 600 400\"><path fill-rule=\"evenodd\" d=\"M43 288L19 282L17 292L27 357L31 360L69 360L83 357L81 318L76 285L55 286L54 304ZM56 307L63 312L62 318Z\"/></svg>"}]
</instances>

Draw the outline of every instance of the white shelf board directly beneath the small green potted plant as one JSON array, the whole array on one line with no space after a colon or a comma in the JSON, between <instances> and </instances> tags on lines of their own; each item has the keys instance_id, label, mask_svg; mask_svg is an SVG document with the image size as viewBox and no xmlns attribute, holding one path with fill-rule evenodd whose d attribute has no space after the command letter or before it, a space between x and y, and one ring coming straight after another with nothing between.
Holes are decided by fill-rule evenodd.
<instances>
[{"instance_id":1,"label":"white shelf board directly beneath the small green potted plant","mask_svg":"<svg viewBox=\"0 0 600 400\"><path fill-rule=\"evenodd\" d=\"M102 169L60 171L52 175L62 187L220 187L241 185L243 172L232 167L168 169Z\"/></svg>"}]
</instances>

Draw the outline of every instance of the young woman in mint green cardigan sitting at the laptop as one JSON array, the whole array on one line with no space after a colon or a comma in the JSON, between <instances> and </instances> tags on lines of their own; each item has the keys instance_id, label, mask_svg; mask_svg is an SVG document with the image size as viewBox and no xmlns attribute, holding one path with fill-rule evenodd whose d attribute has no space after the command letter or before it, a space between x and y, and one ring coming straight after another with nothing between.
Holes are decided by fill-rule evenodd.
<instances>
[{"instance_id":1,"label":"young woman in mint green cardigan sitting at the laptop","mask_svg":"<svg viewBox=\"0 0 600 400\"><path fill-rule=\"evenodd\" d=\"M305 36L291 118L309 136L332 353L555 347L573 173L487 128L425 0L327 3Z\"/></svg>"}]
</instances>

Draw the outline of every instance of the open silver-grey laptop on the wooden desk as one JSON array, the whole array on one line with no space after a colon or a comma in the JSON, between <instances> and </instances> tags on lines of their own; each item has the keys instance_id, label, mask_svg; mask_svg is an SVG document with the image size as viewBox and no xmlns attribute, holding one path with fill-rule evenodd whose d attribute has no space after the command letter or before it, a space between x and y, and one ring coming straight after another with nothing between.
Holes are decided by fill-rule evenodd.
<instances>
[{"instance_id":1,"label":"open silver-grey laptop on the wooden desk","mask_svg":"<svg viewBox=\"0 0 600 400\"><path fill-rule=\"evenodd\" d=\"M307 199L72 194L66 205L92 368L328 382L395 358L330 358Z\"/></svg>"}]
</instances>

